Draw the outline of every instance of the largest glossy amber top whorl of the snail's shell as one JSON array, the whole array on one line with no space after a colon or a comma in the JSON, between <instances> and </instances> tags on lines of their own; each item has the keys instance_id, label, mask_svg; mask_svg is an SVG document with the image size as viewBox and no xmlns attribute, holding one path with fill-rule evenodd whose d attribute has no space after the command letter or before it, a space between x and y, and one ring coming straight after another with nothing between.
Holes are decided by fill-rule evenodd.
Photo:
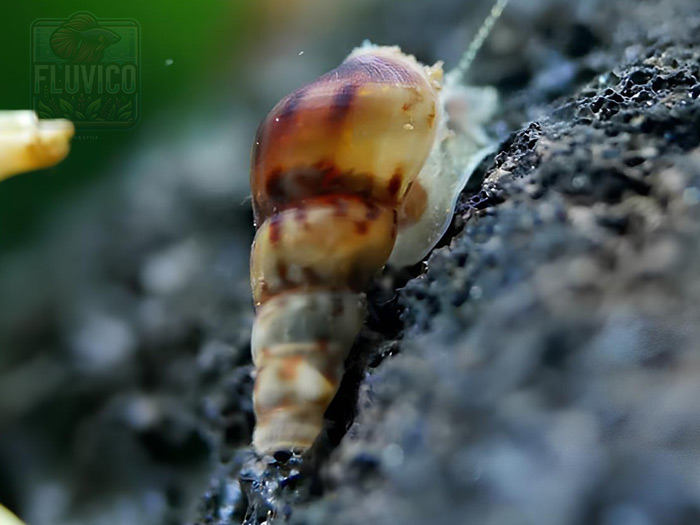
<instances>
[{"instance_id":1,"label":"largest glossy amber top whorl of the snail's shell","mask_svg":"<svg viewBox=\"0 0 700 525\"><path fill-rule=\"evenodd\" d=\"M283 98L253 147L256 224L324 195L396 207L433 145L441 72L395 47L362 47Z\"/></svg>"}]
</instances>

